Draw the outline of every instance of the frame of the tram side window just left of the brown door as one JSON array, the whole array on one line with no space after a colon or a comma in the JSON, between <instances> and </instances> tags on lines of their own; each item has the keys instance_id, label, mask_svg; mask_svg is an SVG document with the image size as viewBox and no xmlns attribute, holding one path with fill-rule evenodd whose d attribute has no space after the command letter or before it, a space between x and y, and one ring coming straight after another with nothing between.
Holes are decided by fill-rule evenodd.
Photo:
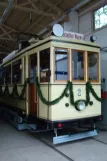
<instances>
[{"instance_id":1,"label":"frame of the tram side window just left of the brown door","mask_svg":"<svg viewBox=\"0 0 107 161\"><path fill-rule=\"evenodd\" d=\"M20 82L13 82L13 64L19 60L21 60L21 65L22 65L22 69L20 69L21 70L21 81ZM23 76L23 60L22 60L22 58L12 61L11 66L12 66L12 84L22 85L23 84L22 83L22 76Z\"/></svg>"}]
</instances>

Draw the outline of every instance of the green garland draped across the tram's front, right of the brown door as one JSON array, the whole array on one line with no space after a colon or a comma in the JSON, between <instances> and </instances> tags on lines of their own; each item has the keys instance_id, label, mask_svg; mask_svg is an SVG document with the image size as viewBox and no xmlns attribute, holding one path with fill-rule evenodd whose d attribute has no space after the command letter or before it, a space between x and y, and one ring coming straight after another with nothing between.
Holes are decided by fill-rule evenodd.
<instances>
[{"instance_id":1,"label":"green garland draped across the tram's front, right of the brown door","mask_svg":"<svg viewBox=\"0 0 107 161\"><path fill-rule=\"evenodd\" d=\"M42 91L40 89L40 84L38 82L38 78L36 77L35 79L35 82L36 82L36 89L37 89L37 93L38 93L38 96L39 98L41 99L41 101L46 104L46 105L55 105L57 104L64 96L68 97L69 94L70 94L70 103L73 105L73 106L77 106L78 102L79 101L84 101L85 105L88 106L88 104L92 105L93 102L90 100L90 93L92 93L92 95L95 97L95 99L99 102L102 101L101 98L98 97L98 95L96 94L96 92L94 91L92 85L90 84L90 82L87 82L86 83L86 100L77 100L77 101L74 101L74 93L73 93L73 85L72 85L72 82L68 81L65 89L63 90L62 94L56 98L55 100L53 101L48 101L45 99L45 97L43 96L42 94ZM69 91L69 94L67 93L67 91Z\"/></svg>"}]
</instances>

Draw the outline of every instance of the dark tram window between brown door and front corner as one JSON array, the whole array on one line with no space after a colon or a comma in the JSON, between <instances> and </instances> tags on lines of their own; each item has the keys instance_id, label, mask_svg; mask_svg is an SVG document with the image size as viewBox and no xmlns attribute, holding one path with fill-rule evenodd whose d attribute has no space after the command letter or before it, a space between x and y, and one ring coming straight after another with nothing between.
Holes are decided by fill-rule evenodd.
<instances>
[{"instance_id":1,"label":"dark tram window between brown door and front corner","mask_svg":"<svg viewBox=\"0 0 107 161\"><path fill-rule=\"evenodd\" d=\"M50 48L40 51L40 82L50 82Z\"/></svg>"}]
</instances>

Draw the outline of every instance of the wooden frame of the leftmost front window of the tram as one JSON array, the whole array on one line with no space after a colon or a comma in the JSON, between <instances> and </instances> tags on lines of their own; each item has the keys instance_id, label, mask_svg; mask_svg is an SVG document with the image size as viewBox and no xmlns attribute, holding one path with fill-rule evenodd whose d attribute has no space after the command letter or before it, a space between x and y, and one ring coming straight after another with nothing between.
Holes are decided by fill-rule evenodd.
<instances>
[{"instance_id":1,"label":"wooden frame of the leftmost front window of the tram","mask_svg":"<svg viewBox=\"0 0 107 161\"><path fill-rule=\"evenodd\" d=\"M68 55L68 57L67 57L67 69L68 69L68 77L67 77L67 80L56 80L55 79L55 71L56 71L56 68L55 68L55 50L56 49L62 49L62 50L66 50L67 51L67 55ZM69 72L69 67L70 67L70 62L69 62L69 55L70 55L70 52L69 52L69 49L68 48L63 48L63 47L54 47L54 52L53 52L53 54L54 54L54 56L53 56L53 62L54 62L54 65L53 65L53 67L54 67L54 70L53 70L53 74L54 74L54 76L53 76L53 78L54 78L54 82L57 82L57 83L60 83L60 82L68 82L68 80L70 80L70 72Z\"/></svg>"}]
</instances>

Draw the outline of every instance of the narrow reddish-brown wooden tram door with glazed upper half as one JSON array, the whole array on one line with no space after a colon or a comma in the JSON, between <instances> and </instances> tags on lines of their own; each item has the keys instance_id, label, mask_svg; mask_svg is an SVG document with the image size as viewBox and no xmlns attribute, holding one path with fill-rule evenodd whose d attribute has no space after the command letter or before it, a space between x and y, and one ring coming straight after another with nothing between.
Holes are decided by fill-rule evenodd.
<instances>
[{"instance_id":1,"label":"narrow reddish-brown wooden tram door with glazed upper half","mask_svg":"<svg viewBox=\"0 0 107 161\"><path fill-rule=\"evenodd\" d=\"M35 86L35 74L37 70L37 54L29 57L29 113L37 116L37 93Z\"/></svg>"}]
</instances>

